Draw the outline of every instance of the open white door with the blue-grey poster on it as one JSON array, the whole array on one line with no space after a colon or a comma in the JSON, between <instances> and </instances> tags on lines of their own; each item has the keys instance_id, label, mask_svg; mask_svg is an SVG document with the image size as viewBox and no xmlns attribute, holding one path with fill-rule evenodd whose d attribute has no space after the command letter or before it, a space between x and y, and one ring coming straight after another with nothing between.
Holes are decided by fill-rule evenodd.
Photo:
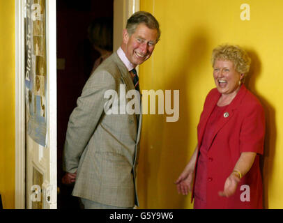
<instances>
[{"instance_id":1,"label":"open white door with the blue-grey poster on it","mask_svg":"<svg viewBox=\"0 0 283 223\"><path fill-rule=\"evenodd\" d=\"M16 13L15 205L56 208L56 1L17 0Z\"/></svg>"}]
</instances>

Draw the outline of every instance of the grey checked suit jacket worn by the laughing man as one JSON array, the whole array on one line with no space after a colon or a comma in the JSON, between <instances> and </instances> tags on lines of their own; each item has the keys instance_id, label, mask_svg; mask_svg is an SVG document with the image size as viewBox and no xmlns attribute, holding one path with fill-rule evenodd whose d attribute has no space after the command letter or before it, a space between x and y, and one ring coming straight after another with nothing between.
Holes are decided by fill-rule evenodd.
<instances>
[{"instance_id":1,"label":"grey checked suit jacket worn by the laughing man","mask_svg":"<svg viewBox=\"0 0 283 223\"><path fill-rule=\"evenodd\" d=\"M142 114L104 112L105 91L135 89L127 68L114 52L86 82L70 115L64 169L77 178L72 195L111 206L139 206L135 185ZM128 102L130 99L125 99ZM139 120L139 123L137 123Z\"/></svg>"}]
</instances>

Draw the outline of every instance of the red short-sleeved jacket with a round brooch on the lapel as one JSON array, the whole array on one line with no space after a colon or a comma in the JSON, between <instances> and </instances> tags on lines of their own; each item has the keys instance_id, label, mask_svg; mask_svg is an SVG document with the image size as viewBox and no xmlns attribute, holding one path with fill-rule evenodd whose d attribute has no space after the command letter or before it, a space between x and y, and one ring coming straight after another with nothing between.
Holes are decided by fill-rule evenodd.
<instances>
[{"instance_id":1,"label":"red short-sleeved jacket with a round brooch on the lapel","mask_svg":"<svg viewBox=\"0 0 283 223\"><path fill-rule=\"evenodd\" d=\"M208 118L220 96L221 94L217 89L213 89L206 97L204 110L197 126L199 148ZM263 208L262 180L259 167L259 154L263 154L265 134L263 107L261 107L259 100L242 85L224 114L217 123L214 137L210 143L211 146L208 149L207 208ZM218 192L224 190L225 180L233 171L242 152L257 153L254 164L238 183L235 194L229 198L220 197ZM193 194L194 188L192 198ZM249 198L250 201L248 201Z\"/></svg>"}]
</instances>

